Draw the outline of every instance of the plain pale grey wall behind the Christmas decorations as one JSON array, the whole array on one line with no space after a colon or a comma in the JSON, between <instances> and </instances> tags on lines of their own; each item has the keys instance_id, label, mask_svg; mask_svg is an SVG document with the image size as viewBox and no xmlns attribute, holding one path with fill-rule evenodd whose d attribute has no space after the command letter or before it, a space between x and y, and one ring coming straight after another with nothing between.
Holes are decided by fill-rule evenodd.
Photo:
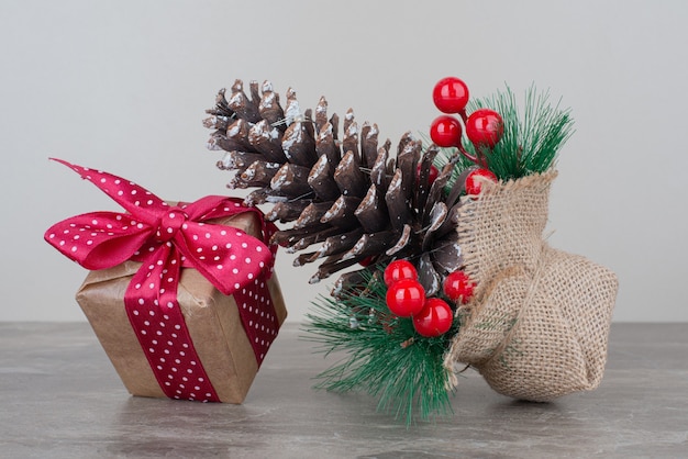
<instances>
[{"instance_id":1,"label":"plain pale grey wall behind the Christmas decorations","mask_svg":"<svg viewBox=\"0 0 688 459\"><path fill-rule=\"evenodd\" d=\"M434 82L474 96L531 83L570 107L554 183L555 247L620 278L614 321L688 321L685 1L0 0L0 321L82 321L85 270L43 242L116 204L55 156L170 200L228 192L204 109L235 78L326 96L396 143L439 114ZM278 272L290 321L328 283Z\"/></svg>"}]
</instances>

